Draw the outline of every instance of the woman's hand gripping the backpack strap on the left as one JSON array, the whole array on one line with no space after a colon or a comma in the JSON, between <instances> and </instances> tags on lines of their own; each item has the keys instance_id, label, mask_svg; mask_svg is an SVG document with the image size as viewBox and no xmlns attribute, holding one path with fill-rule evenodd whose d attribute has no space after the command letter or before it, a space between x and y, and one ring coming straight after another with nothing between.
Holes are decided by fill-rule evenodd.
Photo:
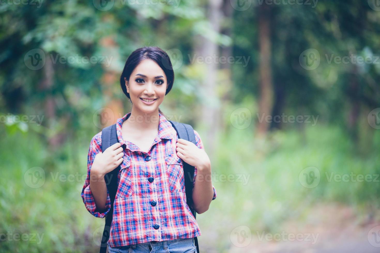
<instances>
[{"instance_id":1,"label":"woman's hand gripping the backpack strap on the left","mask_svg":"<svg viewBox=\"0 0 380 253\"><path fill-rule=\"evenodd\" d=\"M117 168L123 162L123 148L119 142L109 146L104 153L96 154L92 163L91 174L95 173L98 176L104 176L108 172Z\"/></svg>"}]
</instances>

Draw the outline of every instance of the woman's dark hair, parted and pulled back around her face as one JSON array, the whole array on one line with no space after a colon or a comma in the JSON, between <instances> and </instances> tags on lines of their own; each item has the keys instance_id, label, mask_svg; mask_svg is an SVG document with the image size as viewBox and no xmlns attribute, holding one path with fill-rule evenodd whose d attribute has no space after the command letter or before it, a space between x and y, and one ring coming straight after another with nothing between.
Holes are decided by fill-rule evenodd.
<instances>
[{"instance_id":1,"label":"woman's dark hair, parted and pulled back around her face","mask_svg":"<svg viewBox=\"0 0 380 253\"><path fill-rule=\"evenodd\" d=\"M168 88L166 89L165 95L168 94L171 88L173 87L174 71L168 54L159 47L140 47L133 51L131 55L128 57L127 61L125 62L123 72L120 76L120 86L125 96L127 96L129 99L131 99L131 97L129 96L127 88L125 87L124 77L129 81L129 77L133 70L144 59L150 59L155 61L158 64L158 66L160 66L161 69L164 71L166 75L166 80L168 80ZM158 108L158 111L161 114L163 114L160 108Z\"/></svg>"}]
</instances>

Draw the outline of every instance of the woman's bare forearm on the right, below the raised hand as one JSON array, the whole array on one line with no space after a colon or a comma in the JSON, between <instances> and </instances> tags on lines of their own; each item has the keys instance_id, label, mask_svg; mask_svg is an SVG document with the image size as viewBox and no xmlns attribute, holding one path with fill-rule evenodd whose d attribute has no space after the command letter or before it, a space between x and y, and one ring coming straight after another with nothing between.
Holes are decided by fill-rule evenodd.
<instances>
[{"instance_id":1,"label":"woman's bare forearm on the right, below the raised hand","mask_svg":"<svg viewBox=\"0 0 380 253\"><path fill-rule=\"evenodd\" d=\"M195 185L193 188L193 207L198 214L209 209L214 190L211 181L211 164L204 168L197 167Z\"/></svg>"}]
</instances>

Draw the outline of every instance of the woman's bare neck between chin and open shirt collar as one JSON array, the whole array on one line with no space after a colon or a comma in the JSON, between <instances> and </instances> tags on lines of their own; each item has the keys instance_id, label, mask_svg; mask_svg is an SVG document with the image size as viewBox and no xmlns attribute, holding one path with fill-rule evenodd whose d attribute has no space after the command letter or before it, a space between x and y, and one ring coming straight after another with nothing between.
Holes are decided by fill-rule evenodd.
<instances>
[{"instance_id":1,"label":"woman's bare neck between chin and open shirt collar","mask_svg":"<svg viewBox=\"0 0 380 253\"><path fill-rule=\"evenodd\" d=\"M145 113L132 106L131 115L126 123L136 130L157 130L160 123L158 108L154 112Z\"/></svg>"}]
</instances>

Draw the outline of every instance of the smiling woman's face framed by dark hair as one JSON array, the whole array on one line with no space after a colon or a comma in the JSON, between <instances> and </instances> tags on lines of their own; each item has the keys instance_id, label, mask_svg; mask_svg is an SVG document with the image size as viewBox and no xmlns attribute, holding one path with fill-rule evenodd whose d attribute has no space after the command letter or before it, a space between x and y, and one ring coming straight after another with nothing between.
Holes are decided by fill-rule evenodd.
<instances>
[{"instance_id":1,"label":"smiling woman's face framed by dark hair","mask_svg":"<svg viewBox=\"0 0 380 253\"><path fill-rule=\"evenodd\" d=\"M133 70L129 82L124 77L127 92L134 109L143 113L152 113L165 97L168 82L164 71L155 61L142 60Z\"/></svg>"}]
</instances>

